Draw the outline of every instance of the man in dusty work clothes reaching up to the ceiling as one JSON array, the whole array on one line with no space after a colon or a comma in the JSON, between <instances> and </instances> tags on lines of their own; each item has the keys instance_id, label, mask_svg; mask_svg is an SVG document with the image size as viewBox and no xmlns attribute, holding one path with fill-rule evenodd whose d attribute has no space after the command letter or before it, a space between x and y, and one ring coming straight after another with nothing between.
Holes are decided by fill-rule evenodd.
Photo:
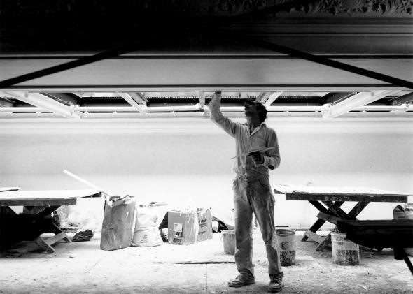
<instances>
[{"instance_id":1,"label":"man in dusty work clothes reaching up to the ceiling","mask_svg":"<svg viewBox=\"0 0 413 294\"><path fill-rule=\"evenodd\" d=\"M255 283L252 262L252 216L260 225L265 242L269 264L269 292L282 290L279 245L274 225L274 196L269 185L268 169L274 170L281 161L276 133L268 128L265 106L257 101L245 103L246 124L232 122L221 112L221 91L216 91L208 107L211 120L235 138L237 158L233 190L235 205L235 263L239 275L228 282L230 287L241 287ZM253 152L253 149L274 147L266 152Z\"/></svg>"}]
</instances>

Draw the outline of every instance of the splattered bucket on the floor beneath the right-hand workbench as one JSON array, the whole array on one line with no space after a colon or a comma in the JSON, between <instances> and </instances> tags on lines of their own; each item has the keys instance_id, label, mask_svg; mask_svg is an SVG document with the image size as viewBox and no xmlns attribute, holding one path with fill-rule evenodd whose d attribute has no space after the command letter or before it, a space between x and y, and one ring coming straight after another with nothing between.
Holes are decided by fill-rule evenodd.
<instances>
[{"instance_id":1,"label":"splattered bucket on the floor beneath the right-hand workbench","mask_svg":"<svg viewBox=\"0 0 413 294\"><path fill-rule=\"evenodd\" d=\"M346 239L346 233L331 233L332 262L339 265L358 265L358 244Z\"/></svg>"}]
</instances>

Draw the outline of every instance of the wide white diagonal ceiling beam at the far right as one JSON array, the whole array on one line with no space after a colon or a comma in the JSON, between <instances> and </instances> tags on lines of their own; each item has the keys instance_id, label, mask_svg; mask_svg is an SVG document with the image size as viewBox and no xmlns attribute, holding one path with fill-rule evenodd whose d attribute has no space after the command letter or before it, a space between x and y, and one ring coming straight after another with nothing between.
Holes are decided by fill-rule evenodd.
<instances>
[{"instance_id":1,"label":"wide white diagonal ceiling beam at the far right","mask_svg":"<svg viewBox=\"0 0 413 294\"><path fill-rule=\"evenodd\" d=\"M386 96L393 95L397 92L398 90L385 90L358 93L349 98L346 98L346 100L340 103L332 105L328 112L323 113L323 117L338 117L339 115L343 115L346 112L355 110L360 106L367 105Z\"/></svg>"}]
</instances>

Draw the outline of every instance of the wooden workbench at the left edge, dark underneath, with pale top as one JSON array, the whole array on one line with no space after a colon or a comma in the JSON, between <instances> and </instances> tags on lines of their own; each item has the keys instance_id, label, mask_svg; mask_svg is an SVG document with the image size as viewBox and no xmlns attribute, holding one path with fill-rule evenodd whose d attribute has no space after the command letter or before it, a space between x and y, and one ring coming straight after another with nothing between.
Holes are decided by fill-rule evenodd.
<instances>
[{"instance_id":1,"label":"wooden workbench at the left edge, dark underneath, with pale top","mask_svg":"<svg viewBox=\"0 0 413 294\"><path fill-rule=\"evenodd\" d=\"M48 253L55 252L52 244L64 240L71 242L66 233L52 222L50 214L61 205L76 205L78 198L100 197L98 190L46 190L46 191L8 191L0 192L0 252L15 242L29 240L36 236L34 242ZM11 206L23 206L18 215ZM41 233L54 233L52 237L43 238ZM40 234L39 236L37 236Z\"/></svg>"}]
</instances>

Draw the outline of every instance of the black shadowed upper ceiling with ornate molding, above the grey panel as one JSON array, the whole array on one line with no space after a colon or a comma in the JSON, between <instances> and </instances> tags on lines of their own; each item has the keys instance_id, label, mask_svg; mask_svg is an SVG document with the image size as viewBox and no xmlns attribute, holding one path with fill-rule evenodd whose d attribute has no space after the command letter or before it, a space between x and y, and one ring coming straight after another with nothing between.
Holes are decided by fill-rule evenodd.
<instances>
[{"instance_id":1,"label":"black shadowed upper ceiling with ornate molding, above the grey panel","mask_svg":"<svg viewBox=\"0 0 413 294\"><path fill-rule=\"evenodd\" d=\"M144 34L160 42L142 42L146 53L267 53L197 30L216 23L311 54L412 54L413 0L303 0L279 13L239 17L290 1L1 0L0 55L99 52Z\"/></svg>"}]
</instances>

